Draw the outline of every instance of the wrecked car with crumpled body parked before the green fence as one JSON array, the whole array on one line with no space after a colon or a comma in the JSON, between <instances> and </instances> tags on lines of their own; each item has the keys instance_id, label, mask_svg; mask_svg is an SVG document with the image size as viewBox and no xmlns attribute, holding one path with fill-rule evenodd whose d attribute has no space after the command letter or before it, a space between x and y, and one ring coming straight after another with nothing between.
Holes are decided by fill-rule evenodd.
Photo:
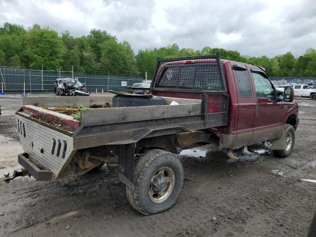
<instances>
[{"instance_id":1,"label":"wrecked car with crumpled body parked before the green fence","mask_svg":"<svg viewBox=\"0 0 316 237\"><path fill-rule=\"evenodd\" d=\"M73 78L58 78L54 83L54 92L56 95L90 95L89 89L84 83Z\"/></svg>"}]
</instances>

